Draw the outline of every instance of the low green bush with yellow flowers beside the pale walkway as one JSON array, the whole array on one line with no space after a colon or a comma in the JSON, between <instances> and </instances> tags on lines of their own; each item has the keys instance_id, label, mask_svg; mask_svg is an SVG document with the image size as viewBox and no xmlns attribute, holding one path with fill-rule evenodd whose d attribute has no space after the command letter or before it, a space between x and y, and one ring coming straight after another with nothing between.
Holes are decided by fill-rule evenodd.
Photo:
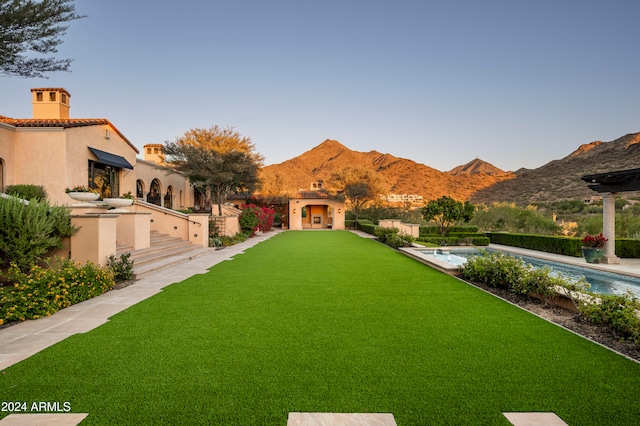
<instances>
[{"instance_id":1,"label":"low green bush with yellow flowers beside the pale walkway","mask_svg":"<svg viewBox=\"0 0 640 426\"><path fill-rule=\"evenodd\" d=\"M49 263L46 268L34 265L27 272L11 264L5 278L9 284L0 287L0 324L51 315L115 285L108 268L68 259Z\"/></svg>"}]
</instances>

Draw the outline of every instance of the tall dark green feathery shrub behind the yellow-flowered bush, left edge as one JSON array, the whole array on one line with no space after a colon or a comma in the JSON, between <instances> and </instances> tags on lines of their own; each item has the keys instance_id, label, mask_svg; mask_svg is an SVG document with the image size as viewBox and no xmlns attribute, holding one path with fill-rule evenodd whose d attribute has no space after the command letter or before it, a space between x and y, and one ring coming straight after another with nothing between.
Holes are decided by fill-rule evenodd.
<instances>
[{"instance_id":1,"label":"tall dark green feathery shrub behind the yellow-flowered bush, left edge","mask_svg":"<svg viewBox=\"0 0 640 426\"><path fill-rule=\"evenodd\" d=\"M0 264L13 262L26 271L77 230L66 207L0 198Z\"/></svg>"}]
</instances>

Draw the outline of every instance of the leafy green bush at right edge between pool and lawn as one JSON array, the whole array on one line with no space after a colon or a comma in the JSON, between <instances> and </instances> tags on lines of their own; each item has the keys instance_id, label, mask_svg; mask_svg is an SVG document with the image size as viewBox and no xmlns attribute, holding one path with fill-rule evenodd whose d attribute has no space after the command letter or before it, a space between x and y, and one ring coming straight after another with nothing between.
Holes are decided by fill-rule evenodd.
<instances>
[{"instance_id":1,"label":"leafy green bush at right edge between pool and lawn","mask_svg":"<svg viewBox=\"0 0 640 426\"><path fill-rule=\"evenodd\" d=\"M640 301L631 294L599 294L597 298L594 303L579 303L580 313L595 324L608 326L621 340L640 344Z\"/></svg>"}]
</instances>

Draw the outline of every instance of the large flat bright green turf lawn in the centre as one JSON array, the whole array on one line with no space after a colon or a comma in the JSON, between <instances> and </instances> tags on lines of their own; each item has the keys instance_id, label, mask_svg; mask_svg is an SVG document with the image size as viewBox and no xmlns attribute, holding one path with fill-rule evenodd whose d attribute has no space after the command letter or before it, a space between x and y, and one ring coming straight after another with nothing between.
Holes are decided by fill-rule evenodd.
<instances>
[{"instance_id":1,"label":"large flat bright green turf lawn in the centre","mask_svg":"<svg viewBox=\"0 0 640 426\"><path fill-rule=\"evenodd\" d=\"M279 234L0 373L0 401L69 401L100 425L630 425L638 389L639 364L341 231Z\"/></svg>"}]
</instances>

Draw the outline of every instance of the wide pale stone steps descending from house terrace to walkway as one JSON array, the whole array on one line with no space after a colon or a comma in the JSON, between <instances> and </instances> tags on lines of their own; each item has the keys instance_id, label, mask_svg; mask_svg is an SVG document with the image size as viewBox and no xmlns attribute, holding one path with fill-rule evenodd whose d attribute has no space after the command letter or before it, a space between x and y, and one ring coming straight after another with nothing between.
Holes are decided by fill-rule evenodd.
<instances>
[{"instance_id":1,"label":"wide pale stone steps descending from house terrace to walkway","mask_svg":"<svg viewBox=\"0 0 640 426\"><path fill-rule=\"evenodd\" d=\"M149 272L169 268L198 256L211 253L213 248L203 248L180 238L170 237L157 231L151 231L151 246L132 250L131 246L117 246L116 256L131 253L133 273L140 278Z\"/></svg>"}]
</instances>

